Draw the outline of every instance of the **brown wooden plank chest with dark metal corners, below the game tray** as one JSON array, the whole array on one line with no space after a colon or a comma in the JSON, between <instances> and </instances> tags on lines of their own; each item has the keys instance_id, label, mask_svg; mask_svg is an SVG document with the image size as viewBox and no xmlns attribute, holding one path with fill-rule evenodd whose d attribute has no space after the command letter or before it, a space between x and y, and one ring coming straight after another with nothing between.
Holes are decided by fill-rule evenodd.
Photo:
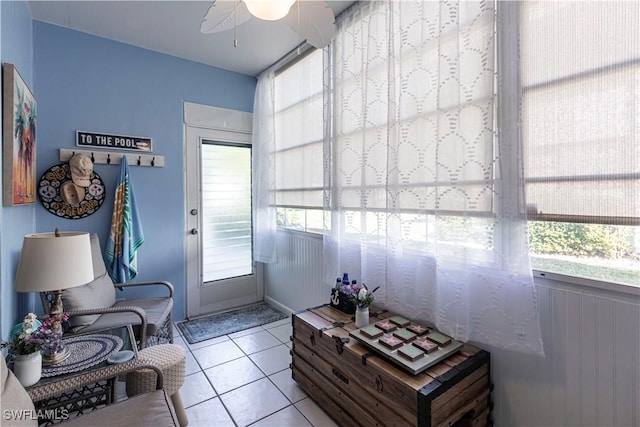
<instances>
[{"instance_id":1,"label":"brown wooden plank chest with dark metal corners, below the game tray","mask_svg":"<svg viewBox=\"0 0 640 427\"><path fill-rule=\"evenodd\" d=\"M394 316L375 307L370 315ZM464 344L413 375L350 337L355 329L330 305L293 316L292 376L341 426L491 424L488 352Z\"/></svg>"}]
</instances>

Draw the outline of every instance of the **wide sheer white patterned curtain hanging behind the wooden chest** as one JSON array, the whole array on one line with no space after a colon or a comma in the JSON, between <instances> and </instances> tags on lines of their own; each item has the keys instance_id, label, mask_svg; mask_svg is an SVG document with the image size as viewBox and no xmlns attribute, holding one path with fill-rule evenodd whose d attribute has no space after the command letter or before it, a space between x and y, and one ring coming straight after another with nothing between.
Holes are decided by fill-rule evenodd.
<instances>
[{"instance_id":1,"label":"wide sheer white patterned curtain hanging behind the wooden chest","mask_svg":"<svg viewBox=\"0 0 640 427\"><path fill-rule=\"evenodd\" d=\"M495 24L493 3L475 1L370 2L341 20L326 95L325 281L349 272L381 286L388 309L457 339L543 354L517 66L496 70ZM499 56L515 60L514 34ZM513 99L495 96L505 71Z\"/></svg>"}]
</instances>

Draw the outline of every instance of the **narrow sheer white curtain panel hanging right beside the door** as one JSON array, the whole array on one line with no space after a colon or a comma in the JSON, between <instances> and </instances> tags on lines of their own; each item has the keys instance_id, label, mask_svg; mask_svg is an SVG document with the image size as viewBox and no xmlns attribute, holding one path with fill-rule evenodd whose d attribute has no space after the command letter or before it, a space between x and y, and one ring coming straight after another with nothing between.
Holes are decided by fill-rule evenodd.
<instances>
[{"instance_id":1,"label":"narrow sheer white curtain panel hanging right beside the door","mask_svg":"<svg viewBox=\"0 0 640 427\"><path fill-rule=\"evenodd\" d=\"M265 70L258 76L253 110L253 258L271 263L276 260L275 212L275 108L274 71Z\"/></svg>"}]
</instances>

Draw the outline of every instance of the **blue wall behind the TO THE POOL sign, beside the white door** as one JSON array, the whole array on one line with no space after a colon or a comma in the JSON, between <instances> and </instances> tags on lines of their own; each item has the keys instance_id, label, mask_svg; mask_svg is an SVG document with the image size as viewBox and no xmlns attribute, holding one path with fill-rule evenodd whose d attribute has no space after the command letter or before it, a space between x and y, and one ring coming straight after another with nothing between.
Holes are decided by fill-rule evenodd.
<instances>
[{"instance_id":1,"label":"blue wall behind the TO THE POOL sign, beside the white door","mask_svg":"<svg viewBox=\"0 0 640 427\"><path fill-rule=\"evenodd\" d=\"M34 85L38 100L38 178L59 164L59 148L75 147L76 130L153 139L165 167L132 166L131 179L145 231L136 280L169 280L174 317L185 298L185 177L183 102L253 110L256 79L176 57L33 22ZM79 220L54 216L38 202L37 232L97 232L106 244L119 166L95 165L107 198ZM141 297L140 289L117 296Z\"/></svg>"}]
</instances>

